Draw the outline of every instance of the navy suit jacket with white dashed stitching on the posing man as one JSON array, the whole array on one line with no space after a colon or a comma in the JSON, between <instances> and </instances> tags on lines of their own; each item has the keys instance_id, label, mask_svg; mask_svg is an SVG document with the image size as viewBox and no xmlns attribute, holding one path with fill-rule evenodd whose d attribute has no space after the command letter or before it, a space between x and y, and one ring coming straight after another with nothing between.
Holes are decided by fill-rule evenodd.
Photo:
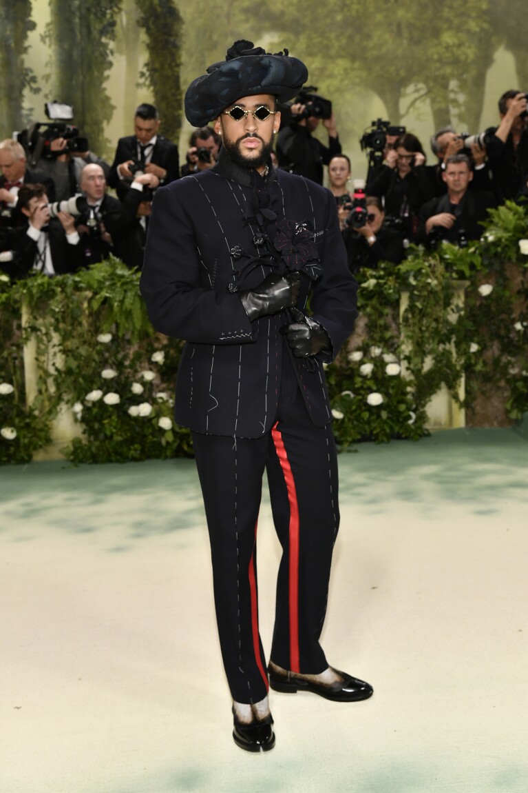
<instances>
[{"instance_id":1,"label":"navy suit jacket with white dashed stitching on the posing man","mask_svg":"<svg viewBox=\"0 0 528 793\"><path fill-rule=\"evenodd\" d=\"M275 423L283 355L290 354L279 328L287 312L249 322L236 284L249 289L272 271L265 263L244 266L264 248L255 220L253 172L238 167L225 151L215 168L161 188L154 197L141 274L141 291L154 327L184 339L177 377L177 423L199 433L256 438ZM298 307L310 296L337 354L350 335L356 312L356 283L329 190L309 179L271 170L262 189L276 220L286 218L313 230L321 274L301 273ZM251 264L251 262L249 262ZM320 354L311 366L291 356L313 423L332 419ZM327 356L330 360L332 356ZM311 359L310 359L311 363Z\"/></svg>"}]
</instances>

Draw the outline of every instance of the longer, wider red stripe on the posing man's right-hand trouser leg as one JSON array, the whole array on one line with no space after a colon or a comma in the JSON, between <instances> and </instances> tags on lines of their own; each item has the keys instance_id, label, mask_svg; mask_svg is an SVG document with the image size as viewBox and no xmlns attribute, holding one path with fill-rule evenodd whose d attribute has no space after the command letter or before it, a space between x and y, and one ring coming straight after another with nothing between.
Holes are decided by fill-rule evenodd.
<instances>
[{"instance_id":1,"label":"longer, wider red stripe on the posing man's right-hand trouser leg","mask_svg":"<svg viewBox=\"0 0 528 793\"><path fill-rule=\"evenodd\" d=\"M289 580L288 580L288 603L290 613L290 670L300 672L299 664L299 640L298 640L298 561L299 561L299 515L297 491L295 489L294 475L291 472L290 461L284 448L283 435L277 429L277 423L272 428L272 438L275 444L275 451L279 458L280 467L283 469L284 481L288 493L288 504L290 505L290 528L289 528Z\"/></svg>"}]
</instances>

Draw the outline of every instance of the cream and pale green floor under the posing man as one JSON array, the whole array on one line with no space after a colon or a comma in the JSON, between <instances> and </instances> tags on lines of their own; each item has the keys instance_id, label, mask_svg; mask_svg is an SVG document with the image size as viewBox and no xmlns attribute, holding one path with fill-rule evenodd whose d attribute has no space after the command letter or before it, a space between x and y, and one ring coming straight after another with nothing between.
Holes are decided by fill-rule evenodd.
<instances>
[{"instance_id":1,"label":"cream and pale green floor under the posing man","mask_svg":"<svg viewBox=\"0 0 528 793\"><path fill-rule=\"evenodd\" d=\"M323 642L365 703L272 695L231 738L192 461L0 469L1 793L526 793L528 443L340 456ZM259 526L265 646L279 549Z\"/></svg>"}]
</instances>

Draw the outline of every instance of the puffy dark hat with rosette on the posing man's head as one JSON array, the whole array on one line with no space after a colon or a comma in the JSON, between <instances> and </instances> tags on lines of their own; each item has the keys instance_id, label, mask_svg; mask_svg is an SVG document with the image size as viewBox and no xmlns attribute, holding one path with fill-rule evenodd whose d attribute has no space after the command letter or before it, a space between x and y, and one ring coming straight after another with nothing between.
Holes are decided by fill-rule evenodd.
<instances>
[{"instance_id":1,"label":"puffy dark hat with rosette on the posing man's head","mask_svg":"<svg viewBox=\"0 0 528 793\"><path fill-rule=\"evenodd\" d=\"M241 97L272 94L279 102L293 99L308 79L298 58L266 52L253 41L235 41L226 60L213 63L207 75L193 80L185 94L185 116L193 127L204 127Z\"/></svg>"}]
</instances>

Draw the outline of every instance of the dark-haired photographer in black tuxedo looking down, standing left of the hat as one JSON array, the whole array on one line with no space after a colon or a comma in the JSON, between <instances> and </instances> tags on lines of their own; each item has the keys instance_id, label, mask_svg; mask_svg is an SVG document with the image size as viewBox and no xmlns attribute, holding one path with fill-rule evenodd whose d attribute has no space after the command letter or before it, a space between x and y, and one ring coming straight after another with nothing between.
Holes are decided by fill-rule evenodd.
<instances>
[{"instance_id":1,"label":"dark-haired photographer in black tuxedo looking down, standing left of the hat","mask_svg":"<svg viewBox=\"0 0 528 793\"><path fill-rule=\"evenodd\" d=\"M135 110L134 135L120 138L108 176L121 201L136 172L154 174L161 185L169 184L180 175L178 147L171 140L158 135L161 121L154 105L139 105Z\"/></svg>"}]
</instances>

